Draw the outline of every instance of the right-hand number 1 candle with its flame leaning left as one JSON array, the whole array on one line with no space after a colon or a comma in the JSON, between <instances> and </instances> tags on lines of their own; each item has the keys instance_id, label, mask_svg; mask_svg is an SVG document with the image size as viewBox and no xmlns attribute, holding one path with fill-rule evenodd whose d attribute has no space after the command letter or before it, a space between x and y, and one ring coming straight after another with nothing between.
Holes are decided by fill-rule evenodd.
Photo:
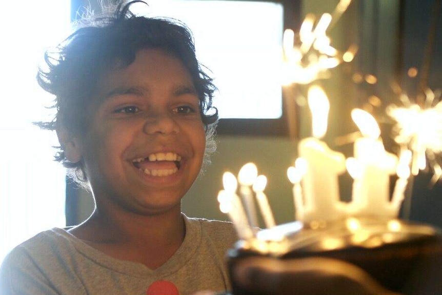
<instances>
[{"instance_id":1,"label":"right-hand number 1 candle with its flame leaning left","mask_svg":"<svg viewBox=\"0 0 442 295\"><path fill-rule=\"evenodd\" d=\"M390 215L390 175L395 173L397 156L385 150L373 116L361 109L351 112L363 138L354 144L354 156L361 163L359 189L353 198L363 202L361 215Z\"/></svg>"}]
</instances>

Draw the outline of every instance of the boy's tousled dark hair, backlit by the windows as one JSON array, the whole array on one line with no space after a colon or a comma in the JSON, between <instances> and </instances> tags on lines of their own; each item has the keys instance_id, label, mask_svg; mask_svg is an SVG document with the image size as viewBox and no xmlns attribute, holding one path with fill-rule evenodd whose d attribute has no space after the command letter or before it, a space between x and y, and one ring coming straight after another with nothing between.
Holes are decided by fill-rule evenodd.
<instances>
[{"instance_id":1,"label":"boy's tousled dark hair, backlit by the windows","mask_svg":"<svg viewBox=\"0 0 442 295\"><path fill-rule=\"evenodd\" d=\"M141 0L123 1L113 13L83 16L79 29L55 49L46 51L37 81L55 95L51 107L56 114L50 122L35 124L43 129L63 126L70 132L84 133L88 128L86 109L94 99L98 81L109 71L129 66L139 50L162 49L178 57L191 74L206 126L206 150L213 150L212 137L218 121L218 111L212 106L216 87L196 59L190 29L176 19L135 15L129 10L134 3L147 5ZM74 181L85 186L87 176L82 161L72 163L66 159L62 146L56 148L55 160L69 168Z\"/></svg>"}]
</instances>

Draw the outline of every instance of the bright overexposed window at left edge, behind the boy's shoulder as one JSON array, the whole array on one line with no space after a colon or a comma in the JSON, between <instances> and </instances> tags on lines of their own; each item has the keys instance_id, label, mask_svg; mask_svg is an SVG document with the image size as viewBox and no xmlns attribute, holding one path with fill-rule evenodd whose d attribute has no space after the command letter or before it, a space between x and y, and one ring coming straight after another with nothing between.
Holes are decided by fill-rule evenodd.
<instances>
[{"instance_id":1,"label":"bright overexposed window at left edge, behind the boy's shoulder","mask_svg":"<svg viewBox=\"0 0 442 295\"><path fill-rule=\"evenodd\" d=\"M51 161L54 134L39 130L52 97L35 80L45 46L69 29L70 1L5 2L0 116L0 261L12 247L39 231L65 225L65 169ZM26 24L24 23L26 20Z\"/></svg>"}]
</instances>

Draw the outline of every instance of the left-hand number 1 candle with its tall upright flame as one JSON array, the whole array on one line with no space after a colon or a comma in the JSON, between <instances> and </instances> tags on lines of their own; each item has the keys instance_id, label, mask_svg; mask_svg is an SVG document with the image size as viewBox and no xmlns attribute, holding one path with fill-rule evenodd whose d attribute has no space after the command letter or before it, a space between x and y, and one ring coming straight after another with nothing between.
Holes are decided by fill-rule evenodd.
<instances>
[{"instance_id":1,"label":"left-hand number 1 candle with its tall upright flame","mask_svg":"<svg viewBox=\"0 0 442 295\"><path fill-rule=\"evenodd\" d=\"M345 172L345 156L319 140L327 131L327 95L318 86L310 87L308 103L313 117L313 136L299 142L299 155L307 160L302 179L305 200L304 221L333 220L341 215L338 206L338 175Z\"/></svg>"}]
</instances>

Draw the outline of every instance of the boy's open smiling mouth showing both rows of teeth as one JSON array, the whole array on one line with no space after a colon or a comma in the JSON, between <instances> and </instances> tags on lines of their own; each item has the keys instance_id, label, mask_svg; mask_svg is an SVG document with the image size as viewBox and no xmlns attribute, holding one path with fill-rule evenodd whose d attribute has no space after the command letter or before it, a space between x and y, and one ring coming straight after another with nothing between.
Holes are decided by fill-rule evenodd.
<instances>
[{"instance_id":1,"label":"boy's open smiling mouth showing both rows of teeth","mask_svg":"<svg viewBox=\"0 0 442 295\"><path fill-rule=\"evenodd\" d=\"M173 152L153 153L146 158L136 158L132 164L152 176L168 176L178 172L181 167L181 156Z\"/></svg>"}]
</instances>

